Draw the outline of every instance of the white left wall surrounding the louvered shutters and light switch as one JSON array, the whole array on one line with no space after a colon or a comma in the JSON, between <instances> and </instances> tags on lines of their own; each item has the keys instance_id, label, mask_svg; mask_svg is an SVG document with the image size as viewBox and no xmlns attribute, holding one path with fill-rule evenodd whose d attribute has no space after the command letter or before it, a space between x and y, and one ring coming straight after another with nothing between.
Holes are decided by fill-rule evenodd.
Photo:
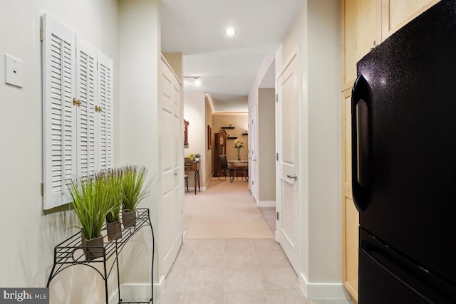
<instances>
[{"instance_id":1,"label":"white left wall surrounding the louvered shutters and light switch","mask_svg":"<svg viewBox=\"0 0 456 304\"><path fill-rule=\"evenodd\" d=\"M39 39L43 13L71 28L113 59L114 115L118 115L118 1L1 1L1 287L45 287L54 246L76 233L71 226L78 225L73 211L63 210L65 207L43 214ZM23 61L24 88L4 84L5 53ZM103 303L104 295L99 292L103 290L103 281L98 274L88 268L76 268L61 273L51 283L51 303Z\"/></svg>"}]
</instances>

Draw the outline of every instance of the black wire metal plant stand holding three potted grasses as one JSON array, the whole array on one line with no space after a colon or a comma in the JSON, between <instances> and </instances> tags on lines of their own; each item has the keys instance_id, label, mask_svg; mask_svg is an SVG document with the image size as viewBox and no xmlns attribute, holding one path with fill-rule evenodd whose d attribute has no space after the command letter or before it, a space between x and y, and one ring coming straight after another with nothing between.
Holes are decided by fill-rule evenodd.
<instances>
[{"instance_id":1,"label":"black wire metal plant stand holding three potted grasses","mask_svg":"<svg viewBox=\"0 0 456 304\"><path fill-rule=\"evenodd\" d=\"M119 253L122 251L125 244L128 240L136 234L142 227L150 226L150 231L152 232L152 267L150 269L150 285L151 285L151 298L150 300L146 301L123 301L120 298L120 276L119 276ZM114 239L112 241L108 241L108 237L106 234L106 226L103 227L102 234L104 234L105 241L103 242L103 246L82 246L81 245L81 233L73 234L65 241L59 243L54 248L54 263L49 274L48 283L46 287L49 287L49 284L55 278L58 273L61 273L66 268L71 267L73 265L85 265L93 268L96 272L98 272L105 281L105 299L106 304L108 304L108 278L110 273L112 273L113 268L117 271L117 283L118 283L118 303L152 303L154 298L154 290L153 290L153 271L154 271L154 253L155 253L155 237L154 237L154 230L152 228L152 223L150 221L150 214L149 209L147 208L138 208L136 209L136 222L135 226L133 224L126 228L122 229L122 237L120 239ZM93 254L99 253L100 258L95 258L91 261L86 259L84 255L84 251L87 249ZM111 259L112 258L112 259ZM110 265L108 263L110 261ZM103 271L100 271L98 268L95 268L94 264L103 263Z\"/></svg>"}]
</instances>

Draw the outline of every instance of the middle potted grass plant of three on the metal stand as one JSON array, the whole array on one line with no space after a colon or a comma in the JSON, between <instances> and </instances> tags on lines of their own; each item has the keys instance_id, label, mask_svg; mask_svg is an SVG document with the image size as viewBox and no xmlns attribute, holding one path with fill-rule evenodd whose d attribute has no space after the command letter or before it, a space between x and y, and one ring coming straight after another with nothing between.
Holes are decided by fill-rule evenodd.
<instances>
[{"instance_id":1,"label":"middle potted grass plant of three on the metal stand","mask_svg":"<svg viewBox=\"0 0 456 304\"><path fill-rule=\"evenodd\" d=\"M122 203L120 169L110 169L105 174L100 174L98 178L107 184L111 192L108 196L109 211L106 214L108 240L120 239L122 237L122 224L120 223L120 206Z\"/></svg>"}]
</instances>

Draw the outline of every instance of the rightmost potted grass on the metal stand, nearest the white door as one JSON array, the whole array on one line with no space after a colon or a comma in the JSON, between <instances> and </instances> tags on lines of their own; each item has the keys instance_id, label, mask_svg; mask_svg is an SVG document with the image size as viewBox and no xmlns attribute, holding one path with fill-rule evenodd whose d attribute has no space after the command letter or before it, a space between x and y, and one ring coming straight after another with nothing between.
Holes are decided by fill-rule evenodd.
<instances>
[{"instance_id":1,"label":"rightmost potted grass on the metal stand, nearest the white door","mask_svg":"<svg viewBox=\"0 0 456 304\"><path fill-rule=\"evenodd\" d=\"M147 169L144 166L125 165L121 169L122 223L124 228L136 225L136 207L149 194L152 179L146 181Z\"/></svg>"}]
</instances>

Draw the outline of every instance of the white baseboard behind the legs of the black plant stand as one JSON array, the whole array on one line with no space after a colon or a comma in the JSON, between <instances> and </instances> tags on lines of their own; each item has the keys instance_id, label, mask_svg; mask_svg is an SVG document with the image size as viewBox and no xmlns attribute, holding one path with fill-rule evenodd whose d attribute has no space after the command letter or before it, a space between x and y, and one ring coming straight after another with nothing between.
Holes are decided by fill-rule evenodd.
<instances>
[{"instance_id":1,"label":"white baseboard behind the legs of the black plant stand","mask_svg":"<svg viewBox=\"0 0 456 304\"><path fill-rule=\"evenodd\" d=\"M122 298L125 300L149 300L150 299L150 283L147 284L122 284L120 285ZM159 283L154 283L154 300L162 298L165 292L165 276L160 278ZM118 303L118 294L115 293L110 301L110 304Z\"/></svg>"}]
</instances>

